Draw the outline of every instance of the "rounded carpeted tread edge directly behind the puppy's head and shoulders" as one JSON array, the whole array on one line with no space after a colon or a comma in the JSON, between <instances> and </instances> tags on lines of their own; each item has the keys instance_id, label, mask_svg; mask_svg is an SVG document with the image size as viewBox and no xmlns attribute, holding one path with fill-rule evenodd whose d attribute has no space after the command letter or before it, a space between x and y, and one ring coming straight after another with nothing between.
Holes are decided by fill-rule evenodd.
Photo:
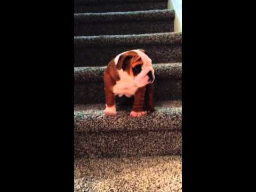
<instances>
[{"instance_id":1,"label":"rounded carpeted tread edge directly behind the puppy's head and shoulders","mask_svg":"<svg viewBox=\"0 0 256 192\"><path fill-rule=\"evenodd\" d=\"M155 63L153 64L156 79L180 79L182 63ZM74 82L103 82L104 67L75 67Z\"/></svg>"}]
</instances>

